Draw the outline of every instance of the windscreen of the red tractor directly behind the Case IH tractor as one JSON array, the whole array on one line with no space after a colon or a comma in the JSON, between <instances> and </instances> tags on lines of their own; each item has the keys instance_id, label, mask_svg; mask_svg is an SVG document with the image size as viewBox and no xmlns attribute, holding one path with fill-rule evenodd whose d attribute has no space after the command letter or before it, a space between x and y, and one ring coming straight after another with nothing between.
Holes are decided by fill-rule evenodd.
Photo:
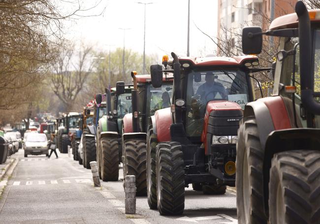
<instances>
[{"instance_id":1,"label":"windscreen of the red tractor directly behind the Case IH tractor","mask_svg":"<svg viewBox=\"0 0 320 224\"><path fill-rule=\"evenodd\" d=\"M150 87L150 116L159 109L170 107L172 85L163 84L160 88Z\"/></svg>"}]
</instances>

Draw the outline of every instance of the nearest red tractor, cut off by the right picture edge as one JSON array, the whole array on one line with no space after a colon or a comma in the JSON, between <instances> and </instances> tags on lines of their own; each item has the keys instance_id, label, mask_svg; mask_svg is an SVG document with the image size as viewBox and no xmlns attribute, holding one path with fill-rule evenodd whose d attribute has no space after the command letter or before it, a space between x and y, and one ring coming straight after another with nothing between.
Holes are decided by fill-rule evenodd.
<instances>
[{"instance_id":1,"label":"nearest red tractor, cut off by the right picture edge","mask_svg":"<svg viewBox=\"0 0 320 224\"><path fill-rule=\"evenodd\" d=\"M246 105L238 131L241 224L320 223L320 10L295 12L242 32L243 53L259 54L263 34L279 52L272 96Z\"/></svg>"}]
</instances>

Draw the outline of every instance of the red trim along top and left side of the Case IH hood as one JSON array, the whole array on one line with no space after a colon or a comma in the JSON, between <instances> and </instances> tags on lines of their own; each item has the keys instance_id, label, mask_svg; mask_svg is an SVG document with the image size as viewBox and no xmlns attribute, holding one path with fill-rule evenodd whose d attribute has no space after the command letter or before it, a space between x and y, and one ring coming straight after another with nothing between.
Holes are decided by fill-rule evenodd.
<instances>
[{"instance_id":1,"label":"red trim along top and left side of the Case IH hood","mask_svg":"<svg viewBox=\"0 0 320 224\"><path fill-rule=\"evenodd\" d=\"M204 115L203 130L201 133L201 142L205 143L207 141L207 127L209 122L209 115L215 110L242 110L242 108L235 102L226 100L212 100L209 101L206 107L206 113ZM208 140L210 141L210 139ZM207 154L207 144L204 144L205 154Z\"/></svg>"}]
</instances>

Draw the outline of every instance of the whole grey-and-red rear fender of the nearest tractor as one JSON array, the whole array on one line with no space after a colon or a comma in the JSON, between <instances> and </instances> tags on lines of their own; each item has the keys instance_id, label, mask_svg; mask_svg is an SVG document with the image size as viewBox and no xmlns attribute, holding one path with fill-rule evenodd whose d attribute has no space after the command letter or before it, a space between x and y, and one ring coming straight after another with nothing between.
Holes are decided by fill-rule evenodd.
<instances>
[{"instance_id":1,"label":"whole grey-and-red rear fender of the nearest tractor","mask_svg":"<svg viewBox=\"0 0 320 224\"><path fill-rule=\"evenodd\" d=\"M272 131L292 128L281 96L265 97L249 102L245 106L243 116L255 116L262 149L265 149L268 135Z\"/></svg>"}]
</instances>

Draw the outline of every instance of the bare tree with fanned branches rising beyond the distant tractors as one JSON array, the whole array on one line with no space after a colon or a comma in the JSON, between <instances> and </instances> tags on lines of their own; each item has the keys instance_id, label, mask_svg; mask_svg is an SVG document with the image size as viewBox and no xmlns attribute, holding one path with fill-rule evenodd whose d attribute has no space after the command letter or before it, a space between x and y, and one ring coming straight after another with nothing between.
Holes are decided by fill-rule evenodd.
<instances>
[{"instance_id":1,"label":"bare tree with fanned branches rising beyond the distant tractors","mask_svg":"<svg viewBox=\"0 0 320 224\"><path fill-rule=\"evenodd\" d=\"M63 50L52 64L51 87L69 112L93 69L92 47Z\"/></svg>"}]
</instances>

